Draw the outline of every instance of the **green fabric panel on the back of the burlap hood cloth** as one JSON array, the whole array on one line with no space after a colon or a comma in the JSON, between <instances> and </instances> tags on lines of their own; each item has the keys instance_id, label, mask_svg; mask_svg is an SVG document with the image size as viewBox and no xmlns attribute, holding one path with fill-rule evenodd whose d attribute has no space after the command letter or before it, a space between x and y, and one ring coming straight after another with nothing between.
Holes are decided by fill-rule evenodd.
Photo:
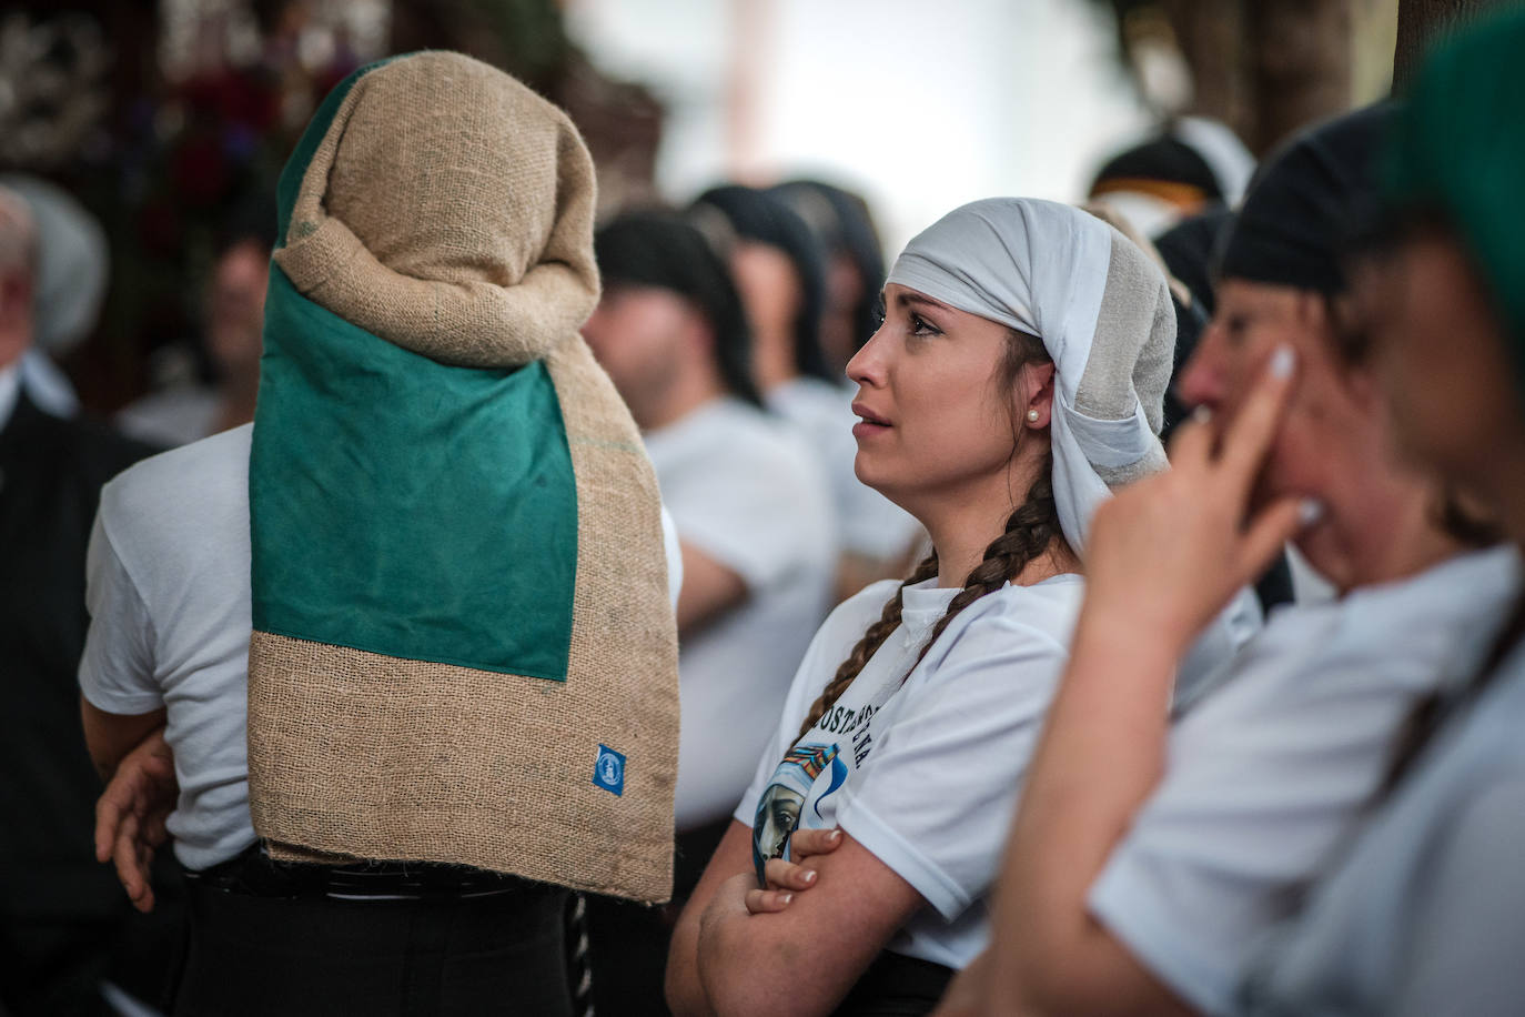
<instances>
[{"instance_id":1,"label":"green fabric panel on the back of the burlap hood cloth","mask_svg":"<svg viewBox=\"0 0 1525 1017\"><path fill-rule=\"evenodd\" d=\"M576 480L544 364L435 363L271 267L259 399L256 630L566 680Z\"/></svg>"}]
</instances>

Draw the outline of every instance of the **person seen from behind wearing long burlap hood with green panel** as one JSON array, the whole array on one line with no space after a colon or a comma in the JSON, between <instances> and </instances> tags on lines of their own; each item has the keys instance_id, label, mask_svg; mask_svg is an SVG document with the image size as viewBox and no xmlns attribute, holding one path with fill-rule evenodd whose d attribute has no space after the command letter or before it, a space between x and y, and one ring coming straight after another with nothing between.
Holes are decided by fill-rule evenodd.
<instances>
[{"instance_id":1,"label":"person seen from behind wearing long burlap hood with green panel","mask_svg":"<svg viewBox=\"0 0 1525 1017\"><path fill-rule=\"evenodd\" d=\"M325 99L278 206L255 424L102 497L87 736L165 727L98 851L151 904L172 753L177 1012L566 1012L564 887L666 898L677 762L677 567L576 334L592 163L418 53Z\"/></svg>"}]
</instances>

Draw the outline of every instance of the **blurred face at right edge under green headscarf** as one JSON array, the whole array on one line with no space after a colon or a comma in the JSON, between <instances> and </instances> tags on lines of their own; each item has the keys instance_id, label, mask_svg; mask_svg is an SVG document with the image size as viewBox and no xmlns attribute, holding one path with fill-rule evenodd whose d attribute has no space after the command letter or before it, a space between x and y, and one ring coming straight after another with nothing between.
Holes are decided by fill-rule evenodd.
<instances>
[{"instance_id":1,"label":"blurred face at right edge under green headscarf","mask_svg":"<svg viewBox=\"0 0 1525 1017\"><path fill-rule=\"evenodd\" d=\"M1357 279L1405 453L1466 491L1508 502L1525 468L1525 410L1476 267L1430 230Z\"/></svg>"}]
</instances>

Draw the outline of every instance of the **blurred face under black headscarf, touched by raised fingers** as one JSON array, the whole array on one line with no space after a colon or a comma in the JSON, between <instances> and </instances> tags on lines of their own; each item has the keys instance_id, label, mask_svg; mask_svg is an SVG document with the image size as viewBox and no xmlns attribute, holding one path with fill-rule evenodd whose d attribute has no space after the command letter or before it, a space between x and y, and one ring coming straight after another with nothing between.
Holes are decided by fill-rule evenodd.
<instances>
[{"instance_id":1,"label":"blurred face under black headscarf, touched by raised fingers","mask_svg":"<svg viewBox=\"0 0 1525 1017\"><path fill-rule=\"evenodd\" d=\"M1325 512L1298 547L1340 589L1354 584L1369 528L1382 526L1380 496L1394 483L1391 425L1369 372L1339 360L1325 299L1286 285L1225 279L1217 314L1182 369L1177 390L1232 422L1278 346L1296 354L1296 380L1254 503L1318 499Z\"/></svg>"}]
</instances>

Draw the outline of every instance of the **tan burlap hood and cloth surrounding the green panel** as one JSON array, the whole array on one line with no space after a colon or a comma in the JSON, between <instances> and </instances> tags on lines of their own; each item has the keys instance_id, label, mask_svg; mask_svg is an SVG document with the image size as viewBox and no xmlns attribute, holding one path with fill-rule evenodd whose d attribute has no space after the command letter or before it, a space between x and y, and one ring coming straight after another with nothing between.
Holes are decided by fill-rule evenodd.
<instances>
[{"instance_id":1,"label":"tan burlap hood and cloth surrounding the green panel","mask_svg":"<svg viewBox=\"0 0 1525 1017\"><path fill-rule=\"evenodd\" d=\"M656 477L576 335L598 297L592 181L560 110L454 53L361 76L308 165L276 261L310 300L444 363L546 361L576 585L564 683L255 633L250 813L274 857L669 895L677 630ZM601 744L627 756L622 794L593 782Z\"/></svg>"}]
</instances>

